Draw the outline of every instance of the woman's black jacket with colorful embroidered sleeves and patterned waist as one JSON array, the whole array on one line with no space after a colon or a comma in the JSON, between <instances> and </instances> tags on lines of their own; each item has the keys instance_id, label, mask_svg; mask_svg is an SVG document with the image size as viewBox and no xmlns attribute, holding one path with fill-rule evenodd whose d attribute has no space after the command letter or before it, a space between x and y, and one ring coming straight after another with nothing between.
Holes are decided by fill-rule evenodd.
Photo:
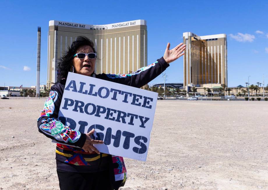
<instances>
[{"instance_id":1,"label":"woman's black jacket with colorful embroidered sleeves and patterned waist","mask_svg":"<svg viewBox=\"0 0 268 190\"><path fill-rule=\"evenodd\" d=\"M155 63L131 74L103 73L97 74L96 78L140 88L156 78L168 66L169 64L162 57ZM57 119L64 86L65 82L61 81L51 87L45 107L37 121L40 133L59 142L56 147L57 169L70 172L96 172L98 164L100 164L100 171L107 169L108 155L102 154L102 162L99 163L100 155L95 152L87 153L82 149L86 141L86 134L70 129Z\"/></svg>"}]
</instances>

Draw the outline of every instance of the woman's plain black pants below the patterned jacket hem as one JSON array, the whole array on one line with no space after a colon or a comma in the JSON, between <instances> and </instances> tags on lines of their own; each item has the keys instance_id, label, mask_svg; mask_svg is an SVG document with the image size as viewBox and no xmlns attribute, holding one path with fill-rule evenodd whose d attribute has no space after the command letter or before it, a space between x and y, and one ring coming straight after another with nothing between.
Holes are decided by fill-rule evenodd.
<instances>
[{"instance_id":1,"label":"woman's plain black pants below the patterned jacket hem","mask_svg":"<svg viewBox=\"0 0 268 190\"><path fill-rule=\"evenodd\" d=\"M61 190L112 190L109 171L75 173L57 170Z\"/></svg>"}]
</instances>

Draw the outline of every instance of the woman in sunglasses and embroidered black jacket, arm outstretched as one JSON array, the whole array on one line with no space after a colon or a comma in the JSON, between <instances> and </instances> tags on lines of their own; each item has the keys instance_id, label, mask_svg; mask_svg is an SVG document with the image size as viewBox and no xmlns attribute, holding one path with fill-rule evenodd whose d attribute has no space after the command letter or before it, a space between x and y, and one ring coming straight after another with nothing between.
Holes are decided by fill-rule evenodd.
<instances>
[{"instance_id":1,"label":"woman in sunglasses and embroidered black jacket, arm outstretched","mask_svg":"<svg viewBox=\"0 0 268 190\"><path fill-rule=\"evenodd\" d=\"M56 164L60 189L110 190L118 189L125 182L124 178L120 184L117 184L117 187L114 182L111 182L110 178L113 178L110 171L113 169L109 169L111 167L109 163L111 163L112 157L100 153L94 147L96 143L103 143L103 141L91 138L94 129L83 134L64 125L68 121L57 119L68 72L140 88L161 74L169 63L182 56L185 46L181 43L170 50L170 43L168 43L162 58L131 74L95 74L94 44L84 36L77 37L68 52L59 61L58 81L51 87L50 95L37 122L39 132L59 142L56 147ZM122 164L122 159L118 159Z\"/></svg>"}]
</instances>

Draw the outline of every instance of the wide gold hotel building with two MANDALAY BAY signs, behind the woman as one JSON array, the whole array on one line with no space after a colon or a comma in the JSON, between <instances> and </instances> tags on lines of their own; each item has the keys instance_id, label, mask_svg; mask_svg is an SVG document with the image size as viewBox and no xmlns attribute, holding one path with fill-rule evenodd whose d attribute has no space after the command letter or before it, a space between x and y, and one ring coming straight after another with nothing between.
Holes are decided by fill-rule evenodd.
<instances>
[{"instance_id":1,"label":"wide gold hotel building with two MANDALAY BAY signs, behind the woman","mask_svg":"<svg viewBox=\"0 0 268 190\"><path fill-rule=\"evenodd\" d=\"M57 81L58 59L83 35L94 42L97 52L96 74L127 74L147 66L147 26L145 20L89 25L49 21L47 87Z\"/></svg>"}]
</instances>

